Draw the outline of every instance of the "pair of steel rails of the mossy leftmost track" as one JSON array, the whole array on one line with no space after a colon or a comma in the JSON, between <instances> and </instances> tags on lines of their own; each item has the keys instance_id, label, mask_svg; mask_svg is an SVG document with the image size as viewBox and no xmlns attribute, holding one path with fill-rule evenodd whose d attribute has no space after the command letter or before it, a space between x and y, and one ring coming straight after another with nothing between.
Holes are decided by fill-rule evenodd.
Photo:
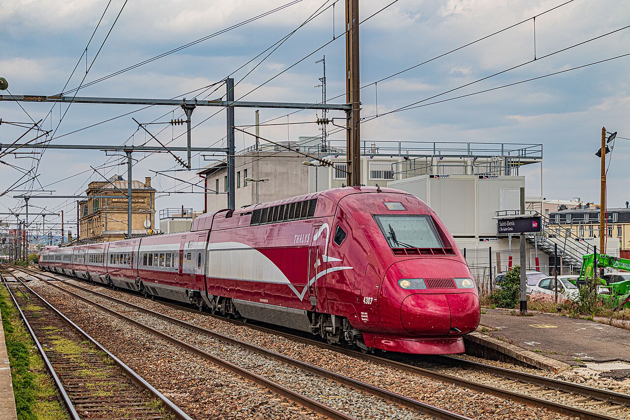
<instances>
[{"instance_id":1,"label":"pair of steel rails of the mossy leftmost track","mask_svg":"<svg viewBox=\"0 0 630 420\"><path fill-rule=\"evenodd\" d=\"M166 398L161 392L159 392L156 388L154 388L150 383L148 383L146 380L144 380L144 378L142 378L142 376L140 376L137 373L135 373L135 371L132 370L132 368L127 366L122 360L120 360L116 356L114 356L114 354L112 354L112 352L110 352L108 349L103 347L100 344L100 342L96 341L96 339L94 339L93 337L91 337L91 335L89 335L87 332L85 332L83 329L81 329L81 327L79 327L79 325L74 324L74 322L72 322L72 320L70 320L68 317L66 317L66 315L64 315L63 313L59 312L59 310L57 310L57 308L55 308L53 305L51 305L49 303L49 301L45 300L42 296L38 295L37 292L35 292L33 289L31 289L26 283L21 281L21 279L18 279L18 277L15 276L15 274L13 274L10 271L8 271L8 272L9 272L9 274L11 276L13 276L14 279L16 279L18 282L20 282L23 286L25 286L30 293L32 293L39 300L41 300L42 303L44 303L46 306L48 306L48 308L50 308L50 310L52 310L52 312L54 312L55 315L60 317L63 322L66 322L66 324L70 325L72 327L72 329L74 329L77 332L79 332L79 334L81 334L86 340L91 342L91 344L93 344L97 349L99 349L103 353L107 354L107 356L110 357L114 361L114 363L117 366L119 366L127 376L129 376L130 380L133 383L135 383L135 385L137 385L140 388L144 388L145 390L149 391L149 393L152 396L154 396L157 400L160 400L164 404L165 408L169 412L171 412L171 414L173 414L173 416L175 416L177 419L180 419L180 420L193 420L192 417L188 416L188 414L183 412L180 409L180 407L175 405L171 400ZM1 274L0 274L0 276L1 276ZM24 320L24 323L25 323L29 333L33 337L33 340L35 341L35 344L36 344L38 350L40 351L40 354L42 354L42 358L44 359L47 368L49 369L51 375L54 378L55 385L57 385L57 388L59 388L59 392L62 395L62 398L64 399L64 403L68 407L68 411L70 412L70 414L71 414L73 419L77 419L77 420L80 419L81 417L79 417L79 414L76 412L76 409L74 408L74 404L72 404L69 395L67 395L66 389L62 385L62 383L61 383L61 381L59 379L59 376L57 376L57 373L54 370L54 368L52 366L52 363L50 363L50 360L49 360L48 356L46 355L45 351L43 351L43 347L41 346L39 340L37 339L37 336L35 335L35 332L33 331L33 329L31 328L30 323L26 319L25 314L22 312L22 310L20 308L20 305L18 304L18 301L16 300L15 296L13 295L13 292L11 292L11 288L9 288L9 285L4 280L4 277L2 277L2 278L3 278L3 281L4 281L4 286L6 287L7 291L9 292L9 295L11 295L11 299L13 300L14 305L16 306L16 308L18 308L18 311L20 312L20 316Z\"/></svg>"}]
</instances>

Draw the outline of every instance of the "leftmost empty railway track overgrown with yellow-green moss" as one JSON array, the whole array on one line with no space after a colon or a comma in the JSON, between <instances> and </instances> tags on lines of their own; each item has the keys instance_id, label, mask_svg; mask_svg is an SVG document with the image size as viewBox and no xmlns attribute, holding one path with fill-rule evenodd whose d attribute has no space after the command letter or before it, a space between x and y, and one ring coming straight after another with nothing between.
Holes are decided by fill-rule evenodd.
<instances>
[{"instance_id":1,"label":"leftmost empty railway track overgrown with yellow-green moss","mask_svg":"<svg viewBox=\"0 0 630 420\"><path fill-rule=\"evenodd\" d=\"M191 420L28 286L4 284L71 419Z\"/></svg>"}]
</instances>

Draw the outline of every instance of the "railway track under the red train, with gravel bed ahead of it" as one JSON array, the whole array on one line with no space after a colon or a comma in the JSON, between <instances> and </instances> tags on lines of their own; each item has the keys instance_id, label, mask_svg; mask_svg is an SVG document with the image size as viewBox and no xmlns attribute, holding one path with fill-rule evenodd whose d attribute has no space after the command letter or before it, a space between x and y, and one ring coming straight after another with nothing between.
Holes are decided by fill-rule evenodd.
<instances>
[{"instance_id":1,"label":"railway track under the red train, with gravel bed ahead of it","mask_svg":"<svg viewBox=\"0 0 630 420\"><path fill-rule=\"evenodd\" d=\"M33 273L34 271L30 271L31 275L33 275ZM48 277L55 279L55 277ZM176 320L175 318L168 317L168 315L156 313L126 301L117 300L117 298L113 298L112 296L108 296L91 289L82 288L76 284L68 284L71 284L75 288L83 289L88 293L93 293L103 298L117 301L122 305L132 305L143 312L151 312L155 316L169 318L173 322L176 322L186 328L207 333L207 330L202 329L197 325ZM184 308L182 306L172 304L168 305L174 306L179 310L184 309L190 312L198 313L197 311ZM232 320L231 322L234 322L234 324L241 324L238 321ZM609 390L587 387L585 385L564 382L553 378L547 378L545 376L532 375L530 373L508 370L505 368L497 368L496 366L475 363L447 356L435 358L438 363L456 366L459 370L461 370L460 375L449 375L435 370L422 368L420 366L415 366L411 364L413 362L408 360L401 362L395 359L381 358L371 354L362 354L343 347L330 346L320 341L296 336L294 334L287 334L285 332L279 332L277 330L267 329L258 325L248 324L248 327L268 334L280 335L287 339L302 342L304 344L318 346L324 349L331 349L333 351L352 356L353 358L364 359L378 365L408 371L416 375L440 380L449 384L455 384L460 387L478 390L487 394L522 402L527 405L544 407L551 411L571 417L580 417L583 419L616 419L624 417L614 417L610 414L619 413L627 416L627 413L630 412L630 395L620 394ZM226 337L226 339L230 339L230 337ZM398 358L405 359L404 356L402 358ZM553 400L551 400L551 398L553 398ZM581 405L581 407L577 407L576 405ZM583 407L588 407L589 409L585 409Z\"/></svg>"}]
</instances>

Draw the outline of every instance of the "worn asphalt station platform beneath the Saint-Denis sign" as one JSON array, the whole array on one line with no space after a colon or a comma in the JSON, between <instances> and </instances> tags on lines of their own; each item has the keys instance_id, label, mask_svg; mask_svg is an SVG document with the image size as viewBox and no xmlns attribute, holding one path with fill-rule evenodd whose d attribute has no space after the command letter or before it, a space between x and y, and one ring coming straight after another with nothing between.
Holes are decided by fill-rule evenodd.
<instances>
[{"instance_id":1,"label":"worn asphalt station platform beneath the Saint-Denis sign","mask_svg":"<svg viewBox=\"0 0 630 420\"><path fill-rule=\"evenodd\" d=\"M621 362L630 368L630 330L546 313L483 312L475 334L491 337L499 346L517 346L566 365Z\"/></svg>"}]
</instances>

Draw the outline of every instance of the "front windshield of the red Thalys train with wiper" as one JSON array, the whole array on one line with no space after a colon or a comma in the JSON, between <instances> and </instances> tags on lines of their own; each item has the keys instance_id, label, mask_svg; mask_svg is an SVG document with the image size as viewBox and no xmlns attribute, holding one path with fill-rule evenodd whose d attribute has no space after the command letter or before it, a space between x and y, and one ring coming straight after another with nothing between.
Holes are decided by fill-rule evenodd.
<instances>
[{"instance_id":1,"label":"front windshield of the red Thalys train with wiper","mask_svg":"<svg viewBox=\"0 0 630 420\"><path fill-rule=\"evenodd\" d=\"M374 216L391 248L444 248L430 216Z\"/></svg>"}]
</instances>

